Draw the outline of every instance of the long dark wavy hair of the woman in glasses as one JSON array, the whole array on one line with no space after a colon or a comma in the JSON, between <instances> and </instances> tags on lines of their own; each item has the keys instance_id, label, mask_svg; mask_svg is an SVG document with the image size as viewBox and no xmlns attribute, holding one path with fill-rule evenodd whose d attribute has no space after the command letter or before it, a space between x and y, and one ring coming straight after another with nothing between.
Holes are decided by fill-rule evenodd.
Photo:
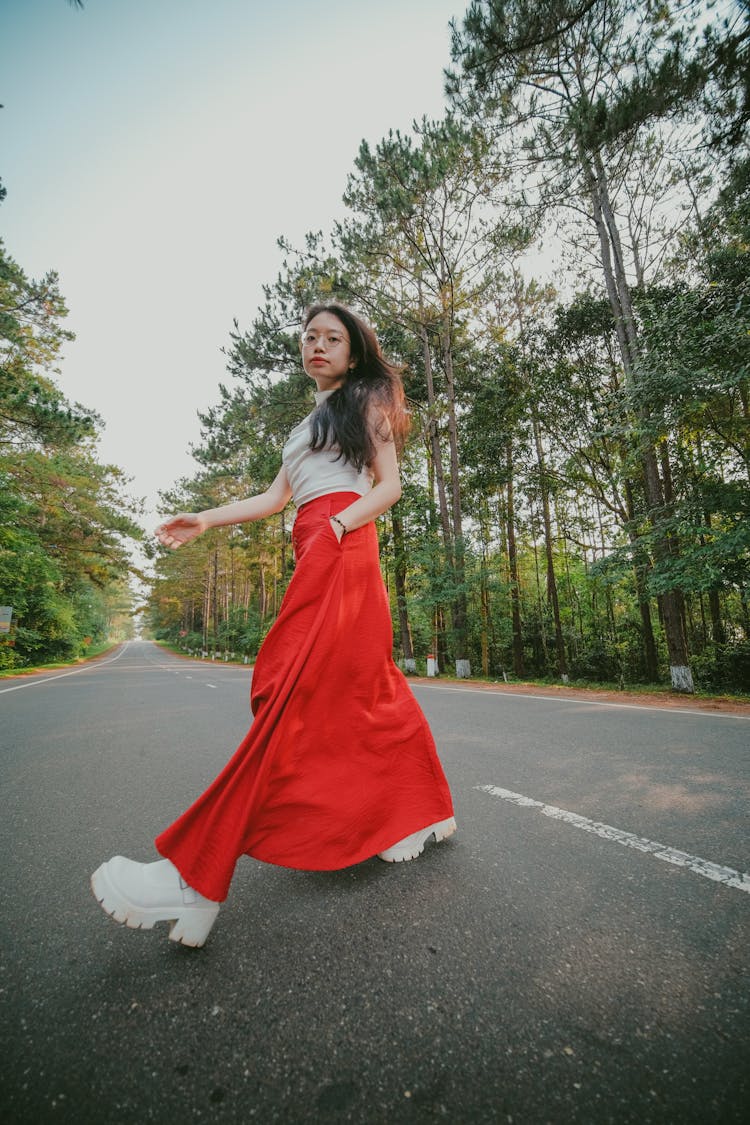
<instances>
[{"instance_id":1,"label":"long dark wavy hair of the woman in glasses","mask_svg":"<svg viewBox=\"0 0 750 1125\"><path fill-rule=\"evenodd\" d=\"M337 448L338 457L363 469L374 459L377 441L392 440L400 451L406 440L409 416L401 372L385 359L370 325L345 305L336 302L310 305L302 327L319 313L331 313L346 328L352 367L341 387L314 411L310 449Z\"/></svg>"}]
</instances>

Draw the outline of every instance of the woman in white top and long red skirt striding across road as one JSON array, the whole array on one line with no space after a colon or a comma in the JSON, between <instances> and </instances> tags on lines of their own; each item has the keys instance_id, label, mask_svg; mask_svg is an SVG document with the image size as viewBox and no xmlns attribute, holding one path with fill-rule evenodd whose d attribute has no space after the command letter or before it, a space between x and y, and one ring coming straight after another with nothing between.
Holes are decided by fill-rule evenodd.
<instances>
[{"instance_id":1,"label":"woman in white top and long red skirt striding across road","mask_svg":"<svg viewBox=\"0 0 750 1125\"><path fill-rule=\"evenodd\" d=\"M398 371L350 309L305 317L305 371L316 406L283 448L261 495L156 529L178 548L208 528L297 506L296 569L257 654L253 724L208 790L156 838L164 857L115 856L91 878L117 921L200 946L245 854L302 871L373 855L413 860L455 830L427 722L392 662L391 623L373 520L401 494L397 451L407 429Z\"/></svg>"}]
</instances>

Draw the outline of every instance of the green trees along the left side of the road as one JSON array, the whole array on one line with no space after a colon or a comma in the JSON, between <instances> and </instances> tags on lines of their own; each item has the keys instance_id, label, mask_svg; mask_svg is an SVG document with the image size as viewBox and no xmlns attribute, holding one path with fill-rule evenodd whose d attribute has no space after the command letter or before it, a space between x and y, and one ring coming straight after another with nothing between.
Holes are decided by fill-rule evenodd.
<instances>
[{"instance_id":1,"label":"green trees along the left side of the road","mask_svg":"<svg viewBox=\"0 0 750 1125\"><path fill-rule=\"evenodd\" d=\"M124 472L98 459L101 420L55 380L66 315L57 276L29 279L0 242L0 672L135 631L130 546L143 531Z\"/></svg>"}]
</instances>

